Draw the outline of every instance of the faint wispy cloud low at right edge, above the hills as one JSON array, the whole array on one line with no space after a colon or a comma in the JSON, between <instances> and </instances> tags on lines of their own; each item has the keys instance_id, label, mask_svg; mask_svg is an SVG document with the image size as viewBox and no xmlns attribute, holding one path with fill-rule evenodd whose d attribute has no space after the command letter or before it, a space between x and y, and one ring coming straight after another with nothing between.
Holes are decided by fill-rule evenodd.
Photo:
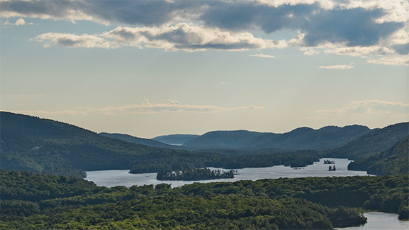
<instances>
[{"instance_id":1,"label":"faint wispy cloud low at right edge, above the hills","mask_svg":"<svg viewBox=\"0 0 409 230\"><path fill-rule=\"evenodd\" d=\"M407 114L409 112L409 105L400 102L391 102L385 100L358 100L351 102L349 107L340 109L320 110L317 112L328 113L355 113L355 114Z\"/></svg>"}]
</instances>

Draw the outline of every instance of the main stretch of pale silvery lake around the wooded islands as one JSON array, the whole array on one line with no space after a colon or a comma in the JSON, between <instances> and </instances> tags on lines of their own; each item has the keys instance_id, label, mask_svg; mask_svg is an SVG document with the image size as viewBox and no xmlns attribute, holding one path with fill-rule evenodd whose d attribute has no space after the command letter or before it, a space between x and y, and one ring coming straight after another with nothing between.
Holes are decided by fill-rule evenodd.
<instances>
[{"instance_id":1,"label":"main stretch of pale silvery lake around the wooded islands","mask_svg":"<svg viewBox=\"0 0 409 230\"><path fill-rule=\"evenodd\" d=\"M336 161L336 171L329 171L327 164L324 164L324 160ZM274 166L266 168L242 168L238 169L238 175L232 179L211 179L203 181L157 181L156 173L141 173L130 174L129 170L102 170L102 171L89 171L87 172L87 180L95 182L98 186L127 186L132 185L142 186L143 184L171 184L172 187L182 186L184 184L193 184L195 182L209 183L209 182L236 182L238 180L250 179L277 179L280 177L296 178L296 177L349 177L356 175L367 175L367 172L363 171L351 171L347 170L348 159L338 158L323 158L320 162L315 162L311 166L304 168L290 168L284 166ZM215 168L210 168L215 169ZM223 170L223 169L222 169Z\"/></svg>"}]
</instances>

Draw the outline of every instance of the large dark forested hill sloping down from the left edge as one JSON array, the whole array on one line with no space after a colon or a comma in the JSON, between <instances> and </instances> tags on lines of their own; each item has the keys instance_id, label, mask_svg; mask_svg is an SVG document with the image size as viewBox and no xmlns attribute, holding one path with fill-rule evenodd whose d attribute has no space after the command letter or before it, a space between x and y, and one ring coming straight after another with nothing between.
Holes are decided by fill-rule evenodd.
<instances>
[{"instance_id":1,"label":"large dark forested hill sloping down from the left edge","mask_svg":"<svg viewBox=\"0 0 409 230\"><path fill-rule=\"evenodd\" d=\"M128 143L34 116L0 112L0 118L1 168L6 170L130 169L135 164L196 157L192 152Z\"/></svg>"}]
</instances>

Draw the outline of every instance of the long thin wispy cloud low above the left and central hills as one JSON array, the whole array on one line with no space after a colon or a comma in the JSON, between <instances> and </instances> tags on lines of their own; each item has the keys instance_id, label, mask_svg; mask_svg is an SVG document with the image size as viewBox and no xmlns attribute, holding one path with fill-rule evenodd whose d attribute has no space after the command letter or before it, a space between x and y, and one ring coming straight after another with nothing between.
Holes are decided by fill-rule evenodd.
<instances>
[{"instance_id":1,"label":"long thin wispy cloud low above the left and central hills","mask_svg":"<svg viewBox=\"0 0 409 230\"><path fill-rule=\"evenodd\" d=\"M148 99L145 102L137 105L123 105L120 107L107 106L103 108L78 108L77 110L62 110L56 112L47 111L19 111L26 114L64 114L64 115L78 115L78 114L155 114L166 112L198 112L198 113L214 113L226 112L241 109L263 109L261 106L243 106L243 107L218 107L214 105L182 105L177 100L168 100L168 103L150 103Z\"/></svg>"}]
</instances>

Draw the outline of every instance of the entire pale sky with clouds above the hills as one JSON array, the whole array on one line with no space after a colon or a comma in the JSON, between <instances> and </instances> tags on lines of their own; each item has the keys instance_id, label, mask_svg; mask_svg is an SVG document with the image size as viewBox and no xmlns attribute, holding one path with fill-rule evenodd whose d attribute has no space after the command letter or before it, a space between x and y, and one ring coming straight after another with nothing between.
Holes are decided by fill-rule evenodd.
<instances>
[{"instance_id":1,"label":"entire pale sky with clouds above the hills","mask_svg":"<svg viewBox=\"0 0 409 230\"><path fill-rule=\"evenodd\" d=\"M153 138L409 121L409 2L0 0L0 109Z\"/></svg>"}]
</instances>

